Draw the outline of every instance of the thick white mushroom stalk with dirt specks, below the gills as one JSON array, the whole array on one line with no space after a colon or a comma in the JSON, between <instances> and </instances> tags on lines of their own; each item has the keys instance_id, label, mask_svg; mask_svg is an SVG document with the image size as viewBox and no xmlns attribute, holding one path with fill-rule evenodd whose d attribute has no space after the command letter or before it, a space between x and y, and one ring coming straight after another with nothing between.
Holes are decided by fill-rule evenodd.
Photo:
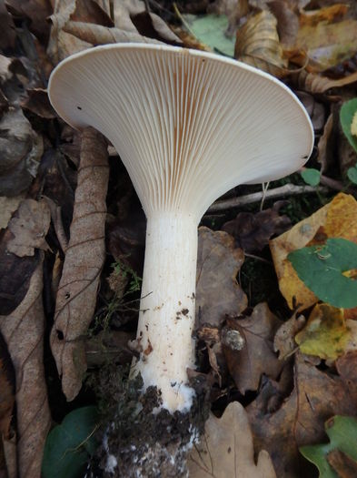
<instances>
[{"instance_id":1,"label":"thick white mushroom stalk with dirt specks, below the gills","mask_svg":"<svg viewBox=\"0 0 357 478\"><path fill-rule=\"evenodd\" d=\"M154 385L170 412L191 407L187 368L194 366L197 220L188 213L155 212L147 221L137 341L144 388Z\"/></svg>"}]
</instances>

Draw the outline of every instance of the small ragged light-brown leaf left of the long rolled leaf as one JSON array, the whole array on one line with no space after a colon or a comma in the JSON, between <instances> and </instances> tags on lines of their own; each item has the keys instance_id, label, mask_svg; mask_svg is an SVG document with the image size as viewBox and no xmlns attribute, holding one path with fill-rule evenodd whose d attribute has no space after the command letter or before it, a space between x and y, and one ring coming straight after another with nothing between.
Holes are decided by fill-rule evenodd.
<instances>
[{"instance_id":1,"label":"small ragged light-brown leaf left of the long rolled leaf","mask_svg":"<svg viewBox=\"0 0 357 478\"><path fill-rule=\"evenodd\" d=\"M45 201L24 199L9 222L8 229L14 237L7 242L7 250L20 258L33 256L35 249L47 250L45 235L50 220L50 209Z\"/></svg>"}]
</instances>

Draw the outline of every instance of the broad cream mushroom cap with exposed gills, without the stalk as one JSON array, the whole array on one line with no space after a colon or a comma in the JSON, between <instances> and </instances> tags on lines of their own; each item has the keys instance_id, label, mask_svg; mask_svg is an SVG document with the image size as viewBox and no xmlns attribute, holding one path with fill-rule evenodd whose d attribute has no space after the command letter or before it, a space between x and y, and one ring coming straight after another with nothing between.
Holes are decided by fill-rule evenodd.
<instances>
[{"instance_id":1,"label":"broad cream mushroom cap with exposed gills, without the stalk","mask_svg":"<svg viewBox=\"0 0 357 478\"><path fill-rule=\"evenodd\" d=\"M287 176L312 152L312 123L279 80L176 46L97 46L55 67L50 101L72 127L114 145L146 215L200 219L228 189Z\"/></svg>"}]
</instances>

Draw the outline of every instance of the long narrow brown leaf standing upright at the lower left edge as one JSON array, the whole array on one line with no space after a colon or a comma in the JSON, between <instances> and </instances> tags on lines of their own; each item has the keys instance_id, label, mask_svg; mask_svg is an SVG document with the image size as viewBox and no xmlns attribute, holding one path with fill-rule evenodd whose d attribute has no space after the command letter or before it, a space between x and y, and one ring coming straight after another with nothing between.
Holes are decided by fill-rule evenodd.
<instances>
[{"instance_id":1,"label":"long narrow brown leaf standing upright at the lower left edge","mask_svg":"<svg viewBox=\"0 0 357 478\"><path fill-rule=\"evenodd\" d=\"M44 371L42 304L43 259L35 270L24 300L8 316L0 316L0 331L15 367L17 461L20 477L40 476L45 437L51 416Z\"/></svg>"}]
</instances>

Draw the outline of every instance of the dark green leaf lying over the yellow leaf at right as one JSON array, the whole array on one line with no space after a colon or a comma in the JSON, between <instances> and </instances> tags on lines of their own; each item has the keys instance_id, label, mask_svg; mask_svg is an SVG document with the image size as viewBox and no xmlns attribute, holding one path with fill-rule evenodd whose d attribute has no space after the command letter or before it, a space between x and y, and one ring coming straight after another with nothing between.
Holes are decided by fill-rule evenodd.
<instances>
[{"instance_id":1,"label":"dark green leaf lying over the yellow leaf at right","mask_svg":"<svg viewBox=\"0 0 357 478\"><path fill-rule=\"evenodd\" d=\"M323 302L351 309L357 306L357 280L342 272L357 269L357 244L327 239L324 246L297 249L288 255L302 282Z\"/></svg>"}]
</instances>

